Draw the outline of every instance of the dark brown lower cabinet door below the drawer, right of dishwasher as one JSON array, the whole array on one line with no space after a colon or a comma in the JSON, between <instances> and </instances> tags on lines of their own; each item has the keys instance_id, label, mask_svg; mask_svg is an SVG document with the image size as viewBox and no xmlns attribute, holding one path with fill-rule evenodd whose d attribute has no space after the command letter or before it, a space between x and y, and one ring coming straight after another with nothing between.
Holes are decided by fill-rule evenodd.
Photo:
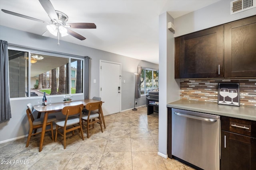
<instances>
[{"instance_id":1,"label":"dark brown lower cabinet door below the drawer, right of dishwasher","mask_svg":"<svg viewBox=\"0 0 256 170\"><path fill-rule=\"evenodd\" d=\"M255 170L256 139L221 131L221 170Z\"/></svg>"}]
</instances>

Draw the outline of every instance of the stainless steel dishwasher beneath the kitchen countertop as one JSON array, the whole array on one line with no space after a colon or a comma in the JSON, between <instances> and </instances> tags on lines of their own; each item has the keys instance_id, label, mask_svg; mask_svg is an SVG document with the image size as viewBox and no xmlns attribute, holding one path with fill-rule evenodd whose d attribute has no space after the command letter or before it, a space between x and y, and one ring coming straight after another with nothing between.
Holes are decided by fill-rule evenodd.
<instances>
[{"instance_id":1,"label":"stainless steel dishwasher beneath the kitchen countertop","mask_svg":"<svg viewBox=\"0 0 256 170\"><path fill-rule=\"evenodd\" d=\"M204 170L219 170L220 116L172 108L172 155Z\"/></svg>"}]
</instances>

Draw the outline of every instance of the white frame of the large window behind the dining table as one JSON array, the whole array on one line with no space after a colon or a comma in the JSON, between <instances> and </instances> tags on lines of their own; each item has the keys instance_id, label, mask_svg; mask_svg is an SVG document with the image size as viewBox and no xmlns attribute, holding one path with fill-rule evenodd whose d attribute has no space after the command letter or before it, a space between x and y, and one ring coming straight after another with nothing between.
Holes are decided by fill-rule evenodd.
<instances>
[{"instance_id":1,"label":"white frame of the large window behind the dining table","mask_svg":"<svg viewBox=\"0 0 256 170\"><path fill-rule=\"evenodd\" d=\"M69 59L69 94L71 94L71 59L76 59L76 60L81 60L83 62L82 64L82 70L84 72L84 57L82 56L78 56L78 55L72 55L72 54L67 54L67 53L58 53L55 51L47 51L47 50L42 50L42 49L36 49L36 48L32 48L32 47L25 47L22 45L15 45L15 44L10 44L8 43L8 50L16 50L16 51L23 51L23 52L27 52L28 53L28 62L27 62L27 70L28 70L28 96L26 97L16 97L16 98L10 98L10 100L17 100L17 99L28 99L28 98L38 98L38 96L30 96L30 91L31 91L31 53L36 53L39 55L48 55L48 56L52 56L52 57L62 57L62 58L67 58ZM9 70L8 70L9 72ZM82 80L84 81L84 73L82 73ZM10 86L10 79L8 79L8 85ZM82 93L77 93L77 94L72 94L72 96L78 96L78 95L84 95L84 83L82 82ZM25 88L25 92L26 92L26 88ZM63 94L56 94L56 95L51 95L52 96L63 96Z\"/></svg>"}]
</instances>

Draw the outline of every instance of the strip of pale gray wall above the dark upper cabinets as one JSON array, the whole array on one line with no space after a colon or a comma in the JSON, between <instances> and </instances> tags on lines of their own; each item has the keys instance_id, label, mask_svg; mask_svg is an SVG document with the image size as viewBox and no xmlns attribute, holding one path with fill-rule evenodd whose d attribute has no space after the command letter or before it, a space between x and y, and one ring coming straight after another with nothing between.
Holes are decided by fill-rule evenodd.
<instances>
[{"instance_id":1,"label":"strip of pale gray wall above the dark upper cabinets","mask_svg":"<svg viewBox=\"0 0 256 170\"><path fill-rule=\"evenodd\" d=\"M230 0L221 0L174 19L174 37L256 15L256 8L230 15Z\"/></svg>"}]
</instances>

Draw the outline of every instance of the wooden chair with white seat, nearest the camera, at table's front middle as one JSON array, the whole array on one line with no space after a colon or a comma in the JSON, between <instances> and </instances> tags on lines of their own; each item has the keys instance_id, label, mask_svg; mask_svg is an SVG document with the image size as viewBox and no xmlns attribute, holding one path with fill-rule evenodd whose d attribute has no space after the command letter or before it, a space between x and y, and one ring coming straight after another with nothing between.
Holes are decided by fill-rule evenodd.
<instances>
[{"instance_id":1,"label":"wooden chair with white seat, nearest the camera, at table's front middle","mask_svg":"<svg viewBox=\"0 0 256 170\"><path fill-rule=\"evenodd\" d=\"M84 140L83 129L82 129L82 119L81 119L83 108L84 108L83 104L79 104L76 106L65 106L63 107L61 112L63 115L66 115L66 118L57 119L56 121L54 121L54 123L56 123L55 142L57 140L57 135L59 133L64 138L64 149L66 149L66 133L70 131L72 131L72 134L74 135L74 130L80 129L82 139ZM79 115L79 117L74 116L77 114ZM63 133L59 130L60 128L63 129Z\"/></svg>"}]
</instances>

